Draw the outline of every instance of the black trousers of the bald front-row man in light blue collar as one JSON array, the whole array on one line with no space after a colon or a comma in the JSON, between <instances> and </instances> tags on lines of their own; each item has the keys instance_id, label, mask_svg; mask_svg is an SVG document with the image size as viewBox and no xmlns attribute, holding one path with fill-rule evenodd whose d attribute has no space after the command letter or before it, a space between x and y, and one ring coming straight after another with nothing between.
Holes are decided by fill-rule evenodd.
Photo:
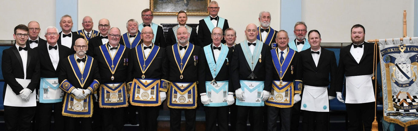
<instances>
[{"instance_id":1,"label":"black trousers of the bald front-row man in light blue collar","mask_svg":"<svg viewBox=\"0 0 418 131\"><path fill-rule=\"evenodd\" d=\"M259 131L263 128L263 106L241 106L237 105L237 127L236 131L245 131L247 129L248 115L252 117L253 131ZM250 113L251 111L251 113Z\"/></svg>"}]
</instances>

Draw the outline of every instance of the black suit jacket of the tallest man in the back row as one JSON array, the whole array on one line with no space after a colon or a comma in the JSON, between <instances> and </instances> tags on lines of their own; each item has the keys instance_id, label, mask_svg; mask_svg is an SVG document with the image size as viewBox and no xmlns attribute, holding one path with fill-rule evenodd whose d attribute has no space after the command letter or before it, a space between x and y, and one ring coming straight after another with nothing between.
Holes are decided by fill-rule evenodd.
<instances>
[{"instance_id":1,"label":"black suit jacket of the tallest man in the back row","mask_svg":"<svg viewBox=\"0 0 418 131\"><path fill-rule=\"evenodd\" d=\"M227 28L229 28L228 20L225 19L224 27L222 27L222 32L225 32L225 30ZM197 32L197 39L199 40L199 44L200 44L201 47L207 46L207 45L212 43L211 31L209 31L209 28L206 25L204 19L201 19L199 21L199 29L198 29L198 32ZM225 43L226 41L223 38L221 42Z\"/></svg>"}]
</instances>

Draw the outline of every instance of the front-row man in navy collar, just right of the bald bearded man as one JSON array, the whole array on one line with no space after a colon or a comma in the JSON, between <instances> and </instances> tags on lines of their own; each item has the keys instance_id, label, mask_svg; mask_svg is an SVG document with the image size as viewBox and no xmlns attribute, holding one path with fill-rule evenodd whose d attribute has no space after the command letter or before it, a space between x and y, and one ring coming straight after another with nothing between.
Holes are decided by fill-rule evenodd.
<instances>
[{"instance_id":1,"label":"front-row man in navy collar, just right of the bald bearded man","mask_svg":"<svg viewBox=\"0 0 418 131\"><path fill-rule=\"evenodd\" d=\"M93 115L100 119L93 117L93 121L94 123L102 123L99 128L102 128L103 131L122 131L125 124L123 120L125 108L122 107L128 105L125 82L128 71L126 59L129 49L119 44L119 28L111 28L107 36L109 36L109 42L94 49L94 59L98 62L100 80L102 81L100 90L97 92L100 108L94 107L94 113L97 113L96 110L99 109L100 116ZM121 95L118 92L113 92L115 90L120 90L118 92ZM110 96L118 97L117 100L112 100Z\"/></svg>"}]
</instances>

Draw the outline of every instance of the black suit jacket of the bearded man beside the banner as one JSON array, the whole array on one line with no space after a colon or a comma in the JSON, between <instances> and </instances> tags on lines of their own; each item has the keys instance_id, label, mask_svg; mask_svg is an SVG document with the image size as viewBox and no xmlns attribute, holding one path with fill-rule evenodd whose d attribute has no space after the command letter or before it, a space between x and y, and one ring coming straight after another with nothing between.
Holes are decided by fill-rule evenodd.
<instances>
[{"instance_id":1,"label":"black suit jacket of the bearded man beside the banner","mask_svg":"<svg viewBox=\"0 0 418 131\"><path fill-rule=\"evenodd\" d=\"M374 51L374 44L364 42L363 44L363 56L360 59L360 62L357 63L352 54L350 53L352 44L341 48L340 50L340 58L337 70L337 81L336 81L336 92L342 92L344 76L351 77L351 76L359 76L359 75L370 75L373 73L373 51ZM358 48L358 47L357 47ZM377 51L378 52L378 51ZM378 54L375 54L376 57L379 57ZM379 62L377 59L376 62ZM375 82L373 83L373 87L375 87ZM345 89L345 88L344 88ZM344 91L345 94L345 91Z\"/></svg>"}]
</instances>

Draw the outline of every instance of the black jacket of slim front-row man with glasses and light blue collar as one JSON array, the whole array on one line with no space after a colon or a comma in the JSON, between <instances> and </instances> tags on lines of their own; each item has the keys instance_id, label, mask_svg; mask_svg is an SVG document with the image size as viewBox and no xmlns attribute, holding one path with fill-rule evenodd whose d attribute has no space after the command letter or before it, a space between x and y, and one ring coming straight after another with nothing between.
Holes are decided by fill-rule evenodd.
<instances>
[{"instance_id":1,"label":"black jacket of slim front-row man with glasses and light blue collar","mask_svg":"<svg viewBox=\"0 0 418 131\"><path fill-rule=\"evenodd\" d=\"M223 49L221 49L223 50ZM212 59L214 58L214 53L213 53L213 48L212 48L212 44L211 44L211 53L210 53L210 57L212 57ZM200 49L200 55L199 55L199 94L200 93L206 93L206 81L212 81L213 77L212 77L212 72L209 69L209 64L207 62L206 59L206 55L205 55L205 51L203 48ZM229 49L228 54L227 54L227 59L223 59L224 64L222 64L221 70L219 70L219 73L217 74L217 76L215 77L215 81L230 81L231 77L231 70L229 69L229 60L232 58L232 49ZM221 62L222 59L218 59L217 62ZM232 82L229 82L228 85L228 92L234 92L234 88L232 86Z\"/></svg>"}]
</instances>

